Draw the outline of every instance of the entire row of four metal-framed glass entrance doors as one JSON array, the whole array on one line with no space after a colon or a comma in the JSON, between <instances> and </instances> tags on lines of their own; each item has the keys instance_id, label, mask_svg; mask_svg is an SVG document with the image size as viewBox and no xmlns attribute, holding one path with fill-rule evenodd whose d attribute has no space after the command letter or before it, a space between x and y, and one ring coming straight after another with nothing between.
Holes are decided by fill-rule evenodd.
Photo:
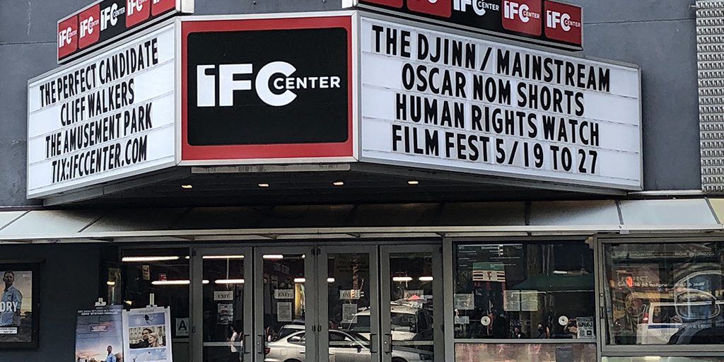
<instances>
[{"instance_id":1,"label":"entire row of four metal-framed glass entrance doors","mask_svg":"<svg viewBox=\"0 0 724 362\"><path fill-rule=\"evenodd\" d=\"M441 259L439 245L196 249L193 361L442 361Z\"/></svg>"}]
</instances>

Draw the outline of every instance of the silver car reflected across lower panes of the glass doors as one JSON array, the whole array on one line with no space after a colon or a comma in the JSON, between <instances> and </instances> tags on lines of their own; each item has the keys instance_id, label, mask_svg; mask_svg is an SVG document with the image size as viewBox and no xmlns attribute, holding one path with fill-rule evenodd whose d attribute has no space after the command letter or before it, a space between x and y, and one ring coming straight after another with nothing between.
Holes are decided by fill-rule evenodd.
<instances>
[{"instance_id":1,"label":"silver car reflected across lower panes of the glass doors","mask_svg":"<svg viewBox=\"0 0 724 362\"><path fill-rule=\"evenodd\" d=\"M305 362L306 346L305 332L295 332L275 342L266 344L269 353L266 353L264 362ZM426 350L413 348L392 348L393 362L421 362L432 361L432 353ZM370 361L369 340L355 332L330 330L329 331L329 361L330 362L363 362Z\"/></svg>"}]
</instances>

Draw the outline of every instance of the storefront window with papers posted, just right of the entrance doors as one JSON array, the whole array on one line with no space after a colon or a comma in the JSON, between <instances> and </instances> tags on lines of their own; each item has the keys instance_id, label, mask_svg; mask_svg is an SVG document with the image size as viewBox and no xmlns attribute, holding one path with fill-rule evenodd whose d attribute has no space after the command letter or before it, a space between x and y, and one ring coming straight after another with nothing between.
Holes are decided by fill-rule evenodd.
<instances>
[{"instance_id":1,"label":"storefront window with papers posted, just right of the entrance doors","mask_svg":"<svg viewBox=\"0 0 724 362\"><path fill-rule=\"evenodd\" d=\"M595 340L585 243L458 244L455 338Z\"/></svg>"}]
</instances>

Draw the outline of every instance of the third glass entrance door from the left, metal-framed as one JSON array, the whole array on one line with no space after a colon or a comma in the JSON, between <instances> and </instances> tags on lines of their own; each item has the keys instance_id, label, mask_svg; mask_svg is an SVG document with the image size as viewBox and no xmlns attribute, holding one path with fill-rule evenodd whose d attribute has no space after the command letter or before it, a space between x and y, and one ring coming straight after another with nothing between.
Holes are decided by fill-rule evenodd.
<instances>
[{"instance_id":1,"label":"third glass entrance door from the left, metal-framed","mask_svg":"<svg viewBox=\"0 0 724 362\"><path fill-rule=\"evenodd\" d=\"M327 323L320 335L327 337L319 339L319 361L379 361L376 269L374 247L321 248L318 279L327 283L319 290L319 319Z\"/></svg>"}]
</instances>

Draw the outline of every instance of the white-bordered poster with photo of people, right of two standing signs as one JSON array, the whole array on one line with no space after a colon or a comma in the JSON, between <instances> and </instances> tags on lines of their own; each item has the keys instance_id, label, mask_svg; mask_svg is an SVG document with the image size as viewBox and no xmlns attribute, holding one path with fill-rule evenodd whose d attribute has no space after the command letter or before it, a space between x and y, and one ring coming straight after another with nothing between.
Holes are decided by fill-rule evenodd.
<instances>
[{"instance_id":1,"label":"white-bordered poster with photo of people, right of two standing signs","mask_svg":"<svg viewBox=\"0 0 724 362\"><path fill-rule=\"evenodd\" d=\"M168 308L132 309L123 314L123 319L126 361L172 361L171 311Z\"/></svg>"}]
</instances>

